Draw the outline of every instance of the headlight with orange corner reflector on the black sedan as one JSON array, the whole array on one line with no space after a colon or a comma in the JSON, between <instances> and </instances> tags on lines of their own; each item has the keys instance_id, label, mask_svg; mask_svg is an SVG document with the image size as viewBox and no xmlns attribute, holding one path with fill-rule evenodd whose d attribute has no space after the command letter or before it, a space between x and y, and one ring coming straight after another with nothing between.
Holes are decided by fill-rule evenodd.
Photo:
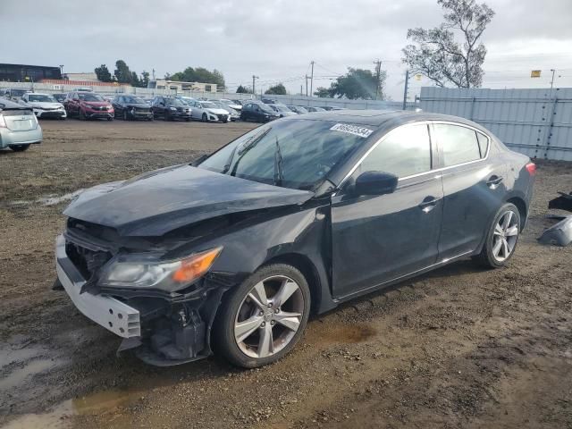
<instances>
[{"instance_id":1,"label":"headlight with orange corner reflector on the black sedan","mask_svg":"<svg viewBox=\"0 0 572 429\"><path fill-rule=\"evenodd\" d=\"M105 269L99 285L110 288L160 289L172 292L202 277L223 250L211 248L175 261L117 261Z\"/></svg>"}]
</instances>

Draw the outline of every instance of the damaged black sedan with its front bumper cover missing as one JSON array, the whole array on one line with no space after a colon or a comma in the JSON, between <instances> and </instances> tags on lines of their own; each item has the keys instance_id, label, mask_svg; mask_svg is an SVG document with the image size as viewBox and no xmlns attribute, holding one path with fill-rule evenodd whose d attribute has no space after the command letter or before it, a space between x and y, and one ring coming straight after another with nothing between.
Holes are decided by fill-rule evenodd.
<instances>
[{"instance_id":1,"label":"damaged black sedan with its front bumper cover missing","mask_svg":"<svg viewBox=\"0 0 572 429\"><path fill-rule=\"evenodd\" d=\"M269 364L310 313L459 259L507 264L535 166L458 117L290 116L206 159L83 192L63 288L154 365Z\"/></svg>"}]
</instances>

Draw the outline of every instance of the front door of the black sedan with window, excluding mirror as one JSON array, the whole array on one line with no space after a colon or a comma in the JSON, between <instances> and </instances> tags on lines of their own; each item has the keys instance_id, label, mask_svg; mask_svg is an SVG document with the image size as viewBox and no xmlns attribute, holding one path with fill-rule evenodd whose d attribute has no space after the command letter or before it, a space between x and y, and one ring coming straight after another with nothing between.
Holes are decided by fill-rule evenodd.
<instances>
[{"instance_id":1,"label":"front door of the black sedan with window, excluding mirror","mask_svg":"<svg viewBox=\"0 0 572 429\"><path fill-rule=\"evenodd\" d=\"M426 123L391 130L332 197L332 277L335 298L374 289L433 265L442 223L442 178L431 172ZM382 196L352 195L362 172L396 174L398 188Z\"/></svg>"}]
</instances>

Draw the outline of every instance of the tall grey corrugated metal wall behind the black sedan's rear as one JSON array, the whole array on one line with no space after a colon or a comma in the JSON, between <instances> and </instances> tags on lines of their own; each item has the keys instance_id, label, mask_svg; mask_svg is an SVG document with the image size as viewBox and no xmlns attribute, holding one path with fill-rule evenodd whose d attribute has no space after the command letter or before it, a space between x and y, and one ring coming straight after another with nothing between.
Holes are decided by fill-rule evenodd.
<instances>
[{"instance_id":1,"label":"tall grey corrugated metal wall behind the black sedan's rear","mask_svg":"<svg viewBox=\"0 0 572 429\"><path fill-rule=\"evenodd\" d=\"M572 88L421 88L425 112L480 123L512 150L572 161Z\"/></svg>"}]
</instances>

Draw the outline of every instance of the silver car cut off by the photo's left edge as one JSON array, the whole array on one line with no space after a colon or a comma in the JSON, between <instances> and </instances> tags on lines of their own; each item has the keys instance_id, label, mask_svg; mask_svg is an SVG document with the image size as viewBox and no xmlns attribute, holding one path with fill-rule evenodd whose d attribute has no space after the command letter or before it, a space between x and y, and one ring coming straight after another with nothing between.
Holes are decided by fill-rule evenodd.
<instances>
[{"instance_id":1,"label":"silver car cut off by the photo's left edge","mask_svg":"<svg viewBox=\"0 0 572 429\"><path fill-rule=\"evenodd\" d=\"M10 147L22 152L41 141L42 129L34 111L29 106L0 98L0 149Z\"/></svg>"}]
</instances>

